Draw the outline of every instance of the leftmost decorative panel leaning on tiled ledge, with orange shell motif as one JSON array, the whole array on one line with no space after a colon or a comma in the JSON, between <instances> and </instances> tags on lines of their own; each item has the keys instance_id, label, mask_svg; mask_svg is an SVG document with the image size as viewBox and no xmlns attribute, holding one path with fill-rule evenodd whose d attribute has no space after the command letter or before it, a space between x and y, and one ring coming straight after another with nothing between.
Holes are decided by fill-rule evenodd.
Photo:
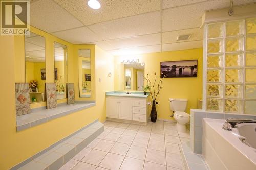
<instances>
[{"instance_id":1,"label":"leftmost decorative panel leaning on tiled ledge, with orange shell motif","mask_svg":"<svg viewBox=\"0 0 256 170\"><path fill-rule=\"evenodd\" d=\"M29 84L15 83L16 116L30 113Z\"/></svg>"}]
</instances>

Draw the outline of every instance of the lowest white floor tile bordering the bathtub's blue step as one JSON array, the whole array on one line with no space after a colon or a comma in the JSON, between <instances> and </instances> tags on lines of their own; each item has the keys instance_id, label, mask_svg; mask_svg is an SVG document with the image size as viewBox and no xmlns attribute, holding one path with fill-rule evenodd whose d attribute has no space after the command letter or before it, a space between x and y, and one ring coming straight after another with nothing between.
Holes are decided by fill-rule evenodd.
<instances>
[{"instance_id":1,"label":"lowest white floor tile bordering the bathtub's blue step","mask_svg":"<svg viewBox=\"0 0 256 170\"><path fill-rule=\"evenodd\" d=\"M179 154L166 153L166 162L167 166L183 169L183 162Z\"/></svg>"}]
</instances>

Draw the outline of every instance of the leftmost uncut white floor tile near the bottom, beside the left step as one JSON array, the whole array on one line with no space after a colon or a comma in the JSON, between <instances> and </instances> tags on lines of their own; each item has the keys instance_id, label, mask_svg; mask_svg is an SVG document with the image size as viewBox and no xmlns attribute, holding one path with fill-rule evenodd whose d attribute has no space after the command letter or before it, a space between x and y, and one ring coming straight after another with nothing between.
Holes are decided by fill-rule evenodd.
<instances>
[{"instance_id":1,"label":"leftmost uncut white floor tile near the bottom, beside the left step","mask_svg":"<svg viewBox=\"0 0 256 170\"><path fill-rule=\"evenodd\" d=\"M108 152L93 149L81 161L98 166L106 154Z\"/></svg>"}]
</instances>

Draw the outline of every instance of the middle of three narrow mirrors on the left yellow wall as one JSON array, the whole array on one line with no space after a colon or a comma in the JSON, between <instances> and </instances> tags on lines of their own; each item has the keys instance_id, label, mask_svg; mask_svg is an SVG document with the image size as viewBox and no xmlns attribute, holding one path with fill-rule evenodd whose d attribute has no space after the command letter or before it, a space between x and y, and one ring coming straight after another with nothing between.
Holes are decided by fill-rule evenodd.
<instances>
[{"instance_id":1,"label":"middle of three narrow mirrors on the left yellow wall","mask_svg":"<svg viewBox=\"0 0 256 170\"><path fill-rule=\"evenodd\" d=\"M67 46L54 42L54 79L57 99L66 98L67 83Z\"/></svg>"}]
</instances>

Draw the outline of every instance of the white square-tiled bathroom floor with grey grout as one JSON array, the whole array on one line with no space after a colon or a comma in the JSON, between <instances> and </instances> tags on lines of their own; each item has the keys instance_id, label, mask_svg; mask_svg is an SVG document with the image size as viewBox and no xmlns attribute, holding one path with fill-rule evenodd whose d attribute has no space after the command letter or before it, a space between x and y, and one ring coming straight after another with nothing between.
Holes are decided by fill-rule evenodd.
<instances>
[{"instance_id":1,"label":"white square-tiled bathroom floor with grey grout","mask_svg":"<svg viewBox=\"0 0 256 170\"><path fill-rule=\"evenodd\" d=\"M158 121L146 126L106 121L104 132L60 170L184 169L181 143L190 133L176 131L175 123Z\"/></svg>"}]
</instances>

